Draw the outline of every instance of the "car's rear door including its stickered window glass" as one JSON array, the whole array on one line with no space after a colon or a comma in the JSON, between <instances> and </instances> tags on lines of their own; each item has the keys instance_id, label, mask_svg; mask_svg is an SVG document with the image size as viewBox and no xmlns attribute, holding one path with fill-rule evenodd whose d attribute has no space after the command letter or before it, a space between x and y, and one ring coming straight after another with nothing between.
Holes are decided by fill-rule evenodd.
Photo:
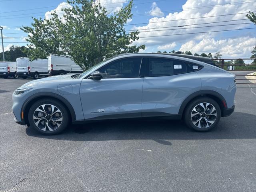
<instances>
[{"instance_id":1,"label":"car's rear door including its stickered window glass","mask_svg":"<svg viewBox=\"0 0 256 192\"><path fill-rule=\"evenodd\" d=\"M196 72L200 66L169 58L146 59L142 117L178 114L184 99L201 88Z\"/></svg>"}]
</instances>

